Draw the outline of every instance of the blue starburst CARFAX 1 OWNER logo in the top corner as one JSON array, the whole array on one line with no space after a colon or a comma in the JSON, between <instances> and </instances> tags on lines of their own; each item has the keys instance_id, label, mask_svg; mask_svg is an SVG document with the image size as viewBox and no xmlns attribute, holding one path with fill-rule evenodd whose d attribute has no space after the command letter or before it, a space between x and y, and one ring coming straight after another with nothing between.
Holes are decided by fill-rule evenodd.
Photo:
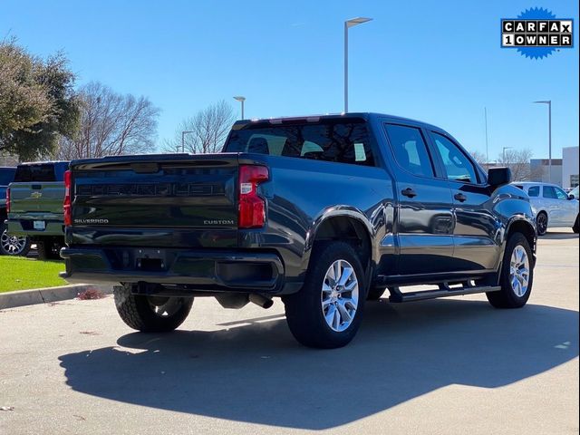
<instances>
[{"instance_id":1,"label":"blue starburst CARFAX 1 OWNER logo in the top corner","mask_svg":"<svg viewBox=\"0 0 580 435\"><path fill-rule=\"evenodd\" d=\"M542 59L574 46L574 20L557 18L543 8L527 9L517 18L501 19L501 47L516 48L530 59Z\"/></svg>"}]
</instances>

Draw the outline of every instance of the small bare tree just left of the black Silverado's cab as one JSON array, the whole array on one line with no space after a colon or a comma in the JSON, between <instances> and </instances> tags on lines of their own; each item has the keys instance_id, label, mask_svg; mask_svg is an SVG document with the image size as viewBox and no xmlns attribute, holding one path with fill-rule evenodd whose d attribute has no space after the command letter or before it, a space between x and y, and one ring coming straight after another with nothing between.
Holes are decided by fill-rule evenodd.
<instances>
[{"instance_id":1,"label":"small bare tree just left of the black Silverado's cab","mask_svg":"<svg viewBox=\"0 0 580 435\"><path fill-rule=\"evenodd\" d=\"M198 111L194 116L181 121L172 140L166 140L163 146L165 152L185 150L192 153L219 152L235 121L234 111L225 101L217 102ZM183 135L183 131L188 131Z\"/></svg>"}]
</instances>

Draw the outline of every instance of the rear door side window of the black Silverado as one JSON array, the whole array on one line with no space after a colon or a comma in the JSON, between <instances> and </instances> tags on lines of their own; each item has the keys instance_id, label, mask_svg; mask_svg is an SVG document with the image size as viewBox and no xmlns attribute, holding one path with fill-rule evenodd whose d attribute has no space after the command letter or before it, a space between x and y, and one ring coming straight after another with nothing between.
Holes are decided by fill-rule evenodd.
<instances>
[{"instance_id":1,"label":"rear door side window of the black Silverado","mask_svg":"<svg viewBox=\"0 0 580 435\"><path fill-rule=\"evenodd\" d=\"M399 166L414 175L433 177L429 151L420 130L396 124L386 124L385 129Z\"/></svg>"}]
</instances>

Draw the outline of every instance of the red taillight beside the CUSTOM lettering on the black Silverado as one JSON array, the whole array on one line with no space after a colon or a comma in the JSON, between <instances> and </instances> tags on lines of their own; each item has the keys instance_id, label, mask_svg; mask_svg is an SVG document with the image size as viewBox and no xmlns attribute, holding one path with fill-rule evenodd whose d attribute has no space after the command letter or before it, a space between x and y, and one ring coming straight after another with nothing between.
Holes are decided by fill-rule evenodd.
<instances>
[{"instance_id":1,"label":"red taillight beside the CUSTOM lettering on the black Silverado","mask_svg":"<svg viewBox=\"0 0 580 435\"><path fill-rule=\"evenodd\" d=\"M269 179L266 166L240 165L237 227L264 227L266 201L257 194L257 185Z\"/></svg>"}]
</instances>

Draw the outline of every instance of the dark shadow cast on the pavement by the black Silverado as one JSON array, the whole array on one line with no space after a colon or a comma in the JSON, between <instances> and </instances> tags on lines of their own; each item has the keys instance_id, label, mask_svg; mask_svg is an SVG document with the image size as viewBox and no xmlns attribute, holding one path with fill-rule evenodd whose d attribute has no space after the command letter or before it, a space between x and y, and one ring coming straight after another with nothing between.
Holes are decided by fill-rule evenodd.
<instances>
[{"instance_id":1,"label":"dark shadow cast on the pavement by the black Silverado","mask_svg":"<svg viewBox=\"0 0 580 435\"><path fill-rule=\"evenodd\" d=\"M458 300L382 301L365 311L353 343L333 351L301 347L284 319L266 316L217 332L129 333L120 347L59 360L67 384L93 396L322 430L452 384L505 386L578 355L575 311Z\"/></svg>"}]
</instances>

